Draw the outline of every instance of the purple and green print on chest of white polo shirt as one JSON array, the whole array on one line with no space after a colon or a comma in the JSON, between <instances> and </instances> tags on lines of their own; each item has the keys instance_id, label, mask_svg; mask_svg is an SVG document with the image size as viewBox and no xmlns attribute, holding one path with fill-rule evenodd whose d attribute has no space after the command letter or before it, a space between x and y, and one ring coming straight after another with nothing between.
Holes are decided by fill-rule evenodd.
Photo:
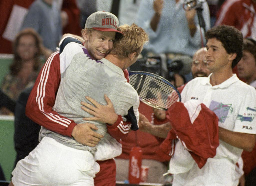
<instances>
[{"instance_id":1,"label":"purple and green print on chest of white polo shirt","mask_svg":"<svg viewBox=\"0 0 256 186\"><path fill-rule=\"evenodd\" d=\"M219 122L224 123L228 118L228 113L233 112L232 104L223 104L217 101L211 101L209 109L213 111L219 118Z\"/></svg>"}]
</instances>

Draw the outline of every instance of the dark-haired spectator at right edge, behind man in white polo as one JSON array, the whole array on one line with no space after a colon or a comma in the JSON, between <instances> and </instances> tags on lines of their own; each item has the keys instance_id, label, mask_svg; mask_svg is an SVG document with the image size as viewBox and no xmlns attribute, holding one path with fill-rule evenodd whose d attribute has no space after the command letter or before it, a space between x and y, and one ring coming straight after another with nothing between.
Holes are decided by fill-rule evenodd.
<instances>
[{"instance_id":1,"label":"dark-haired spectator at right edge, behind man in white polo","mask_svg":"<svg viewBox=\"0 0 256 186\"><path fill-rule=\"evenodd\" d=\"M244 39L243 57L237 64L238 74L246 83L256 88L256 40ZM256 145L252 152L243 151L243 171L245 185L254 186L256 183Z\"/></svg>"}]
</instances>

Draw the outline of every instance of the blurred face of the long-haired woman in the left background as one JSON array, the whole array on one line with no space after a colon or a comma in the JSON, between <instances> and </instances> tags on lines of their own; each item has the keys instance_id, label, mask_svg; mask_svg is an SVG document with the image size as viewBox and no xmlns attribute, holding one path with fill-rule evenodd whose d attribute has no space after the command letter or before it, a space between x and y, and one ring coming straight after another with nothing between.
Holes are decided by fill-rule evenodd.
<instances>
[{"instance_id":1,"label":"blurred face of the long-haired woman in the left background","mask_svg":"<svg viewBox=\"0 0 256 186\"><path fill-rule=\"evenodd\" d=\"M32 60L37 53L35 38L32 35L23 35L20 37L17 53L23 61Z\"/></svg>"}]
</instances>

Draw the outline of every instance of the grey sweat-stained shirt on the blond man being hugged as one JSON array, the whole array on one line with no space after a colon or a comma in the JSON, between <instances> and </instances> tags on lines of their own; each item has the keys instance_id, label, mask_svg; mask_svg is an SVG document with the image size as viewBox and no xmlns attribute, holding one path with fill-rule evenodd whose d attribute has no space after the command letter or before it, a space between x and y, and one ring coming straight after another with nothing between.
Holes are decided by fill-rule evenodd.
<instances>
[{"instance_id":1,"label":"grey sweat-stained shirt on the blond man being hugged","mask_svg":"<svg viewBox=\"0 0 256 186\"><path fill-rule=\"evenodd\" d=\"M85 123L82 118L91 117L80 107L81 101L87 101L85 96L92 97L102 105L106 105L104 94L113 103L118 115L133 115L135 124L139 119L139 98L137 92L127 82L121 68L103 58L100 61L92 60L87 49L81 44L73 42L73 38L62 40L60 47L61 82L56 96L53 110L60 115L74 120L77 124ZM62 51L63 50L63 51ZM91 104L91 103L90 103ZM106 124L97 121L88 121L97 126L96 132L105 135ZM74 138L41 128L39 138L44 136L80 150L88 150L93 155L97 146L92 148L78 143Z\"/></svg>"}]
</instances>

